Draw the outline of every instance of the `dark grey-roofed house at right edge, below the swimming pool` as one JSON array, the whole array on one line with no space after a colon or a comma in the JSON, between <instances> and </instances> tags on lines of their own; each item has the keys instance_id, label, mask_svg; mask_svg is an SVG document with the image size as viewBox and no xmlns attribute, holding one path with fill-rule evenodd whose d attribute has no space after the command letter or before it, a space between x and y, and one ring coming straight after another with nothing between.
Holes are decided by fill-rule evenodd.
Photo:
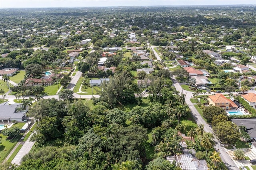
<instances>
[{"instance_id":1,"label":"dark grey-roofed house at right edge, below the swimming pool","mask_svg":"<svg viewBox=\"0 0 256 170\"><path fill-rule=\"evenodd\" d=\"M252 140L256 140L256 119L231 119L231 121L239 126L246 127L247 133Z\"/></svg>"}]
</instances>

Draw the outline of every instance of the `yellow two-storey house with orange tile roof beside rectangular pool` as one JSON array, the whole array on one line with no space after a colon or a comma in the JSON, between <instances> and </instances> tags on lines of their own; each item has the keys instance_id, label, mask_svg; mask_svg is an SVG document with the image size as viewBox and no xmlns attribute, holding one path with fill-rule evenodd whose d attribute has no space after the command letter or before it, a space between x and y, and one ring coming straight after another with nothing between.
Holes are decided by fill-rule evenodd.
<instances>
[{"instance_id":1,"label":"yellow two-storey house with orange tile roof beside rectangular pool","mask_svg":"<svg viewBox=\"0 0 256 170\"><path fill-rule=\"evenodd\" d=\"M224 95L217 93L215 95L209 95L208 96L209 104L217 107L221 107L225 110L230 109L237 109L238 106L231 101L230 99L227 99Z\"/></svg>"}]
</instances>

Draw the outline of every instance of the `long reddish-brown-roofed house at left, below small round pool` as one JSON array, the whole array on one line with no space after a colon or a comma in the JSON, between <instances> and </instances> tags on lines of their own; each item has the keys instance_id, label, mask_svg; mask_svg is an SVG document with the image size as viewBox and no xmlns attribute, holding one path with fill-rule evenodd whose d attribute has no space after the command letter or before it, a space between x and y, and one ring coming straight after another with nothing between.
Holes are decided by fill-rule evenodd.
<instances>
[{"instance_id":1,"label":"long reddish-brown-roofed house at left, below small round pool","mask_svg":"<svg viewBox=\"0 0 256 170\"><path fill-rule=\"evenodd\" d=\"M54 79L56 77L59 78L60 74L51 74L49 76L43 76L40 79L29 78L25 81L25 86L36 86L36 85L49 86L54 83Z\"/></svg>"}]
</instances>

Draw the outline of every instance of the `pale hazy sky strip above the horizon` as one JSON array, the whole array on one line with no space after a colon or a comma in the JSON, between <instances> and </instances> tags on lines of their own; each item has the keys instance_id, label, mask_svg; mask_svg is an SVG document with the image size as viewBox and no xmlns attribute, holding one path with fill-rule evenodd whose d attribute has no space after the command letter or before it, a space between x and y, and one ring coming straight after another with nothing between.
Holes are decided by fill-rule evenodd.
<instances>
[{"instance_id":1,"label":"pale hazy sky strip above the horizon","mask_svg":"<svg viewBox=\"0 0 256 170\"><path fill-rule=\"evenodd\" d=\"M237 5L256 4L256 0L0 0L0 8Z\"/></svg>"}]
</instances>

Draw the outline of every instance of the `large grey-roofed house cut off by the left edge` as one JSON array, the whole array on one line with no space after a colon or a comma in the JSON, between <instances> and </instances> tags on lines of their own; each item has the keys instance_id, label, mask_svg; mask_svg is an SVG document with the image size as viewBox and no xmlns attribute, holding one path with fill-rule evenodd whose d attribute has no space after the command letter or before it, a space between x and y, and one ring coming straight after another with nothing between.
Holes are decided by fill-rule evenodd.
<instances>
[{"instance_id":1,"label":"large grey-roofed house cut off by the left edge","mask_svg":"<svg viewBox=\"0 0 256 170\"><path fill-rule=\"evenodd\" d=\"M8 102L4 102L0 104L0 121L4 124L4 121L17 121L22 122L26 120L26 112L28 112L28 109L24 111L20 111L20 108L22 107L22 104L15 103L12 105L9 105Z\"/></svg>"}]
</instances>

